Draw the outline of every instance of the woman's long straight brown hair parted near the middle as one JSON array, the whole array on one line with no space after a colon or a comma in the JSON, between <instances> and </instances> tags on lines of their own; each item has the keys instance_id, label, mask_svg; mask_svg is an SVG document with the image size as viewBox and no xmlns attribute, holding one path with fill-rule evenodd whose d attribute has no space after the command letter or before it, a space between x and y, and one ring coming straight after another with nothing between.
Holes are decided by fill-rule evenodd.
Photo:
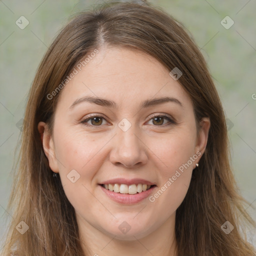
<instances>
[{"instance_id":1,"label":"woman's long straight brown hair parted near the middle","mask_svg":"<svg viewBox=\"0 0 256 256\"><path fill-rule=\"evenodd\" d=\"M65 196L59 175L52 177L37 124L44 121L52 128L61 90L52 91L61 88L59 84L75 65L101 45L138 49L155 57L169 71L178 67L182 71L178 81L192 100L197 125L202 117L210 118L205 152L176 210L178 255L255 255L243 237L245 231L240 230L244 224L256 225L245 211L248 202L237 192L225 116L207 64L186 28L146 2L108 2L79 13L45 53L26 105L19 167L8 204L13 219L3 255L84 255L74 208ZM20 221L29 227L24 234L15 229ZM221 229L226 221L234 226L229 234Z\"/></svg>"}]
</instances>

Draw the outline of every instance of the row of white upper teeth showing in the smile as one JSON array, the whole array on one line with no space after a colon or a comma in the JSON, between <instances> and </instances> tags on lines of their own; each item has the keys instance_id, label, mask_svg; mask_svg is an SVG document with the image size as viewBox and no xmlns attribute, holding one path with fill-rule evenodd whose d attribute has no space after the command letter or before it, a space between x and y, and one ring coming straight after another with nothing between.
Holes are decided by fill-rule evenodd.
<instances>
[{"instance_id":1,"label":"row of white upper teeth showing in the smile","mask_svg":"<svg viewBox=\"0 0 256 256\"><path fill-rule=\"evenodd\" d=\"M122 193L122 194L135 194L140 193L142 191L148 190L151 185L147 184L103 184L103 187L107 190L114 191L115 193Z\"/></svg>"}]
</instances>

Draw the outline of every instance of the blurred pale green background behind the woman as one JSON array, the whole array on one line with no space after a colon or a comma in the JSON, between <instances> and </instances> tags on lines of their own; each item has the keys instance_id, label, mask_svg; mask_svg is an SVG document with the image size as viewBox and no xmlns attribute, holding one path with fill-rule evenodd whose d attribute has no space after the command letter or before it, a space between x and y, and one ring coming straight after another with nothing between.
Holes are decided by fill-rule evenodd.
<instances>
[{"instance_id":1,"label":"blurred pale green background behind the woman","mask_svg":"<svg viewBox=\"0 0 256 256\"><path fill-rule=\"evenodd\" d=\"M101 0L0 1L0 237L6 219L14 150L29 87L37 66L70 14ZM203 53L229 126L234 176L241 194L256 206L256 0L151 0L181 21ZM20 29L15 21L29 24ZM221 20L234 24L226 29ZM224 19L225 26L231 20ZM24 23L23 23L24 24ZM255 209L247 211L256 219ZM11 218L11 213L8 214ZM19 221L18 221L19 222ZM256 244L255 230L248 230Z\"/></svg>"}]
</instances>

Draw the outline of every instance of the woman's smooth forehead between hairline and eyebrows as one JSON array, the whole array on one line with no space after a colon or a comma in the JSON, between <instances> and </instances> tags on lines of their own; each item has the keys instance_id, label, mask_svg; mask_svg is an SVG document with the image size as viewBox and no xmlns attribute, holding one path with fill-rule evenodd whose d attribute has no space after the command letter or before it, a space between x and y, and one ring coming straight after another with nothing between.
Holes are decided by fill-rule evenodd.
<instances>
[{"instance_id":1,"label":"woman's smooth forehead between hairline and eyebrows","mask_svg":"<svg viewBox=\"0 0 256 256\"><path fill-rule=\"evenodd\" d=\"M126 47L101 47L89 54L86 62L74 68L76 74L64 86L59 101L69 106L78 97L91 95L108 98L118 107L140 104L143 99L171 96L192 103L188 94L169 70L157 59L142 51Z\"/></svg>"}]
</instances>

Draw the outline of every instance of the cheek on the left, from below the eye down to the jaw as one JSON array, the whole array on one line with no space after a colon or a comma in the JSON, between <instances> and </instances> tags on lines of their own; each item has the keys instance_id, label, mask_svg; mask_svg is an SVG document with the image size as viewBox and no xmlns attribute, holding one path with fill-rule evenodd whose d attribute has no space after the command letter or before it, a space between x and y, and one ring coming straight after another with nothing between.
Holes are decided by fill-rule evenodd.
<instances>
[{"instance_id":1,"label":"cheek on the left, from below the eye down to the jaw","mask_svg":"<svg viewBox=\"0 0 256 256\"><path fill-rule=\"evenodd\" d=\"M56 129L57 130L57 129ZM59 175L65 195L73 207L82 212L84 207L96 203L89 192L93 177L102 163L100 139L79 132L55 135L55 150L58 157ZM102 141L102 140L101 140Z\"/></svg>"}]
</instances>

